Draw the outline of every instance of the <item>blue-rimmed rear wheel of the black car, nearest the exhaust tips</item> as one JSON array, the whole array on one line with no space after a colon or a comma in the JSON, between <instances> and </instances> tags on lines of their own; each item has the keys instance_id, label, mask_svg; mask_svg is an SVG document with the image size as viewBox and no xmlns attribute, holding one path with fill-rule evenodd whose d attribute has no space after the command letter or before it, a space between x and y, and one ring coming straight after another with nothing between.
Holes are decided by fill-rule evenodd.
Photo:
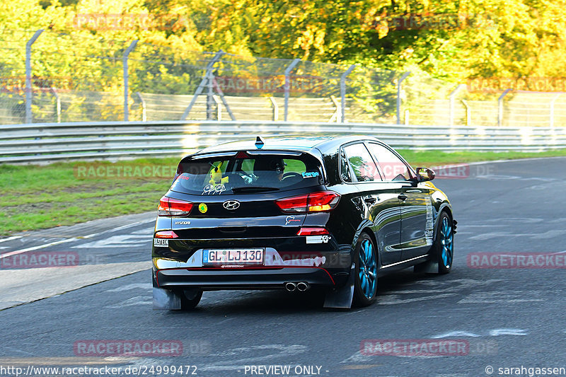
<instances>
[{"instance_id":1,"label":"blue-rimmed rear wheel of the black car, nearest the exhaust tips","mask_svg":"<svg viewBox=\"0 0 566 377\"><path fill-rule=\"evenodd\" d=\"M377 250L374 242L362 233L354 250L354 306L369 306L377 295Z\"/></svg>"}]
</instances>

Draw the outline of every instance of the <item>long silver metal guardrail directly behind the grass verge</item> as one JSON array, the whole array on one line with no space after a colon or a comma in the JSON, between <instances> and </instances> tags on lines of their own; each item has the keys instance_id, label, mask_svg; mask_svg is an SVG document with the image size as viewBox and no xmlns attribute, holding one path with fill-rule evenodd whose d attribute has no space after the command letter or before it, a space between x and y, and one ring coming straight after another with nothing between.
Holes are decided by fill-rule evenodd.
<instances>
[{"instance_id":1,"label":"long silver metal guardrail directly behind the grass verge","mask_svg":"<svg viewBox=\"0 0 566 377\"><path fill-rule=\"evenodd\" d=\"M0 126L0 163L172 156L226 141L289 134L362 134L395 148L442 151L566 148L566 127L217 121L33 123Z\"/></svg>"}]
</instances>

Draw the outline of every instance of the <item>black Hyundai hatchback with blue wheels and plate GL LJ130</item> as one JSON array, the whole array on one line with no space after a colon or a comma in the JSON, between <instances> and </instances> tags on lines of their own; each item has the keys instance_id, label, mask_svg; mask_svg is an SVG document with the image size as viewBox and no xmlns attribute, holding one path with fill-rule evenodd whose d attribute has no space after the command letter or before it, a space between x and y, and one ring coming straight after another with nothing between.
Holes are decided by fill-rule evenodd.
<instances>
[{"instance_id":1,"label":"black Hyundai hatchback with blue wheels and plate GL LJ130","mask_svg":"<svg viewBox=\"0 0 566 377\"><path fill-rule=\"evenodd\" d=\"M258 137L186 156L158 207L154 308L311 287L350 308L372 303L388 272L449 272L456 221L433 178L371 137Z\"/></svg>"}]
</instances>

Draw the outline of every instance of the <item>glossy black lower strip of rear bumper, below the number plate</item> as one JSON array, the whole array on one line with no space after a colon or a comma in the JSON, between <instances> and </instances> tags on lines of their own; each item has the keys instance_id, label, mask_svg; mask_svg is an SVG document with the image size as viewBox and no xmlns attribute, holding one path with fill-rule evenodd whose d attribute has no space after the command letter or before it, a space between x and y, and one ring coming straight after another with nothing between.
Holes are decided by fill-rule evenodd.
<instances>
[{"instance_id":1,"label":"glossy black lower strip of rear bumper, below the number plate","mask_svg":"<svg viewBox=\"0 0 566 377\"><path fill-rule=\"evenodd\" d=\"M347 274L333 276L320 267L283 267L262 269L154 269L159 288L180 289L282 289L286 282L307 282L316 286L344 285Z\"/></svg>"}]
</instances>

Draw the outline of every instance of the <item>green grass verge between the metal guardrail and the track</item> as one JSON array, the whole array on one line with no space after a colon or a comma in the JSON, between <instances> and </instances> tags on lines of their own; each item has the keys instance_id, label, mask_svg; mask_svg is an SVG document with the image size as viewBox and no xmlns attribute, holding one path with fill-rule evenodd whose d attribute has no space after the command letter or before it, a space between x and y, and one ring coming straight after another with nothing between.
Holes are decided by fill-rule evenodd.
<instances>
[{"instance_id":1,"label":"green grass verge between the metal guardrail and the track","mask_svg":"<svg viewBox=\"0 0 566 377\"><path fill-rule=\"evenodd\" d=\"M399 152L413 166L566 156L566 149L541 153ZM178 158L144 158L118 163L0 165L0 236L154 211L171 185L177 163Z\"/></svg>"}]
</instances>

